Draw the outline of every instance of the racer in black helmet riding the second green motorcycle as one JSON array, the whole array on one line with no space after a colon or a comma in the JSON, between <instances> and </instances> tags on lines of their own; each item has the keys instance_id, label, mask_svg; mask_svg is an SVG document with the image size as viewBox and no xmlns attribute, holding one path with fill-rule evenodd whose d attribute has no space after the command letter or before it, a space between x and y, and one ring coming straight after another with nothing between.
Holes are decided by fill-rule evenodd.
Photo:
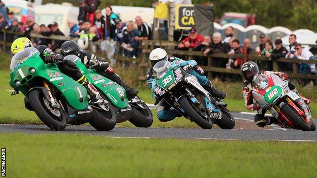
<instances>
[{"instance_id":1,"label":"racer in black helmet riding the second green motorcycle","mask_svg":"<svg viewBox=\"0 0 317 178\"><path fill-rule=\"evenodd\" d=\"M139 93L139 90L124 84L119 75L117 75L113 68L109 66L107 61L101 60L89 51L81 50L74 40L64 42L60 47L60 54L64 57L71 54L78 56L86 67L96 69L101 75L122 86L129 98L134 97Z\"/></svg>"}]
</instances>

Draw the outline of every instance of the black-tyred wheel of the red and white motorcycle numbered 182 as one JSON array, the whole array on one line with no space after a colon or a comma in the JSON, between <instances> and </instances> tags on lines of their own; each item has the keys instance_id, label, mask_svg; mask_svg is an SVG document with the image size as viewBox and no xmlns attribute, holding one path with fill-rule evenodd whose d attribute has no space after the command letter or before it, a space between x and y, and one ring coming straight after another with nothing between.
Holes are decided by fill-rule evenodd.
<instances>
[{"instance_id":1,"label":"black-tyred wheel of the red and white motorcycle numbered 182","mask_svg":"<svg viewBox=\"0 0 317 178\"><path fill-rule=\"evenodd\" d=\"M310 126L304 122L304 120L291 109L288 104L285 104L281 108L282 112L301 130L311 131Z\"/></svg>"}]
</instances>

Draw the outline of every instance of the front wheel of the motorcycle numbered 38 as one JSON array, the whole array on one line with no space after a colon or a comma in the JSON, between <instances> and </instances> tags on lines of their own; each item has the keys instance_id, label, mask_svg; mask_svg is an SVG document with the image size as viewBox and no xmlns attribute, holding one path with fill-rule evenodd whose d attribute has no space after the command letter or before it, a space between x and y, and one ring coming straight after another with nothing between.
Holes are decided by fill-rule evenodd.
<instances>
[{"instance_id":1,"label":"front wheel of the motorcycle numbered 38","mask_svg":"<svg viewBox=\"0 0 317 178\"><path fill-rule=\"evenodd\" d=\"M189 103L187 97L182 97L179 100L179 105L183 108L185 111L185 114L194 121L197 125L199 125L203 129L211 129L212 128L212 122L211 120L207 118L203 118L198 112L196 111L195 106L192 106L191 103Z\"/></svg>"}]
</instances>

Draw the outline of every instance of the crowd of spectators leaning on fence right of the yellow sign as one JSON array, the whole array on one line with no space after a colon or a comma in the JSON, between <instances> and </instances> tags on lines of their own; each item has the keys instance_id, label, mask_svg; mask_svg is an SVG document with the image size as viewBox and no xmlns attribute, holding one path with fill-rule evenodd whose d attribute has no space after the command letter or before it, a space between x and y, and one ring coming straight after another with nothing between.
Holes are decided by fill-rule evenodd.
<instances>
[{"instance_id":1,"label":"crowd of spectators leaning on fence right of the yellow sign","mask_svg":"<svg viewBox=\"0 0 317 178\"><path fill-rule=\"evenodd\" d=\"M192 48L193 51L202 51L203 55L213 53L226 53L230 55L258 55L264 56L268 60L258 60L260 70L273 70L273 61L278 58L290 58L290 62L278 62L278 70L283 72L292 72L293 63L291 59L304 59L304 60L316 60L314 55L303 48L301 44L296 41L296 35L291 34L289 38L288 49L283 47L282 40L276 39L273 42L268 38L268 35L261 33L261 44L256 48L250 47L250 40L245 38L243 44L240 44L238 39L234 37L234 28L228 27L226 30L226 37L222 38L221 33L215 32L212 34L212 40L209 35L202 37L195 28L189 30L189 35L178 45L178 49L184 50ZM207 57L196 56L195 60L200 65L207 64ZM215 67L226 67L240 69L241 65L246 62L246 57L243 58L229 58L224 60L223 58L212 58L211 65ZM300 74L316 74L314 64L300 63L298 65Z\"/></svg>"}]
</instances>

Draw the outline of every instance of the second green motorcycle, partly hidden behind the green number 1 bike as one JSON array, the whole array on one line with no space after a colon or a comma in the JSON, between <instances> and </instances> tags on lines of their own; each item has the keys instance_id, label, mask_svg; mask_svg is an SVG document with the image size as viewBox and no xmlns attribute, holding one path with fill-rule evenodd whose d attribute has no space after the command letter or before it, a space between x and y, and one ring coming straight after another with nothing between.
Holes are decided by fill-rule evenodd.
<instances>
[{"instance_id":1,"label":"second green motorcycle, partly hidden behind the green number 1 bike","mask_svg":"<svg viewBox=\"0 0 317 178\"><path fill-rule=\"evenodd\" d=\"M128 98L123 87L107 79L94 69L87 69L80 58L68 55L65 60L72 60L101 93L115 110L117 123L130 121L136 127L150 127L153 123L153 115L146 103L135 96ZM90 123L91 124L91 123Z\"/></svg>"}]
</instances>

